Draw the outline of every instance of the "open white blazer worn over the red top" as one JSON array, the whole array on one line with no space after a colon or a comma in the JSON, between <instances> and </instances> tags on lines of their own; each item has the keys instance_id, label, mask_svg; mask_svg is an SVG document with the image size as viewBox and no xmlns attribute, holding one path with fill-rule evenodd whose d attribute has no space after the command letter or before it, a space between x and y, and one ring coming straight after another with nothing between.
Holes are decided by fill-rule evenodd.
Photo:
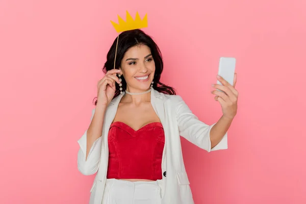
<instances>
[{"instance_id":1,"label":"open white blazer worn over the red top","mask_svg":"<svg viewBox=\"0 0 306 204\"><path fill-rule=\"evenodd\" d=\"M108 132L117 112L121 95L114 98L107 107L102 136L92 145L86 158L85 134L78 140L78 169L84 175L97 172L90 190L90 204L101 204L108 169ZM159 116L165 132L165 147L162 157L162 204L192 204L194 203L189 186L188 176L183 161L180 136L210 152L211 150L227 149L227 133L222 140L211 148L210 130L207 125L191 112L179 95L167 95L152 89L151 104ZM92 111L93 117L94 110ZM165 173L166 172L166 173Z\"/></svg>"}]
</instances>

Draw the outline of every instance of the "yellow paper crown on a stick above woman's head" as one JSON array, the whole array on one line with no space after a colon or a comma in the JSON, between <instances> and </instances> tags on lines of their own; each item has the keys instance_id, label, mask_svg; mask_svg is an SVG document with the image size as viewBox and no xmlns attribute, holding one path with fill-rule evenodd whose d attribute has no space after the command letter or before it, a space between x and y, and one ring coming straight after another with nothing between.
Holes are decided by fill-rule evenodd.
<instances>
[{"instance_id":1,"label":"yellow paper crown on a stick above woman's head","mask_svg":"<svg viewBox=\"0 0 306 204\"><path fill-rule=\"evenodd\" d=\"M130 31L130 30L134 30L134 29L141 29L141 28L145 28L148 26L148 21L147 21L147 14L145 14L145 16L143 17L143 19L141 20L138 12L136 12L136 17L135 20L132 18L132 16L130 15L129 12L126 11L126 21L124 21L119 15L118 15L118 23L115 23L113 21L111 21L111 23L113 24L115 30L119 33L119 32L123 32L123 31Z\"/></svg>"}]
</instances>

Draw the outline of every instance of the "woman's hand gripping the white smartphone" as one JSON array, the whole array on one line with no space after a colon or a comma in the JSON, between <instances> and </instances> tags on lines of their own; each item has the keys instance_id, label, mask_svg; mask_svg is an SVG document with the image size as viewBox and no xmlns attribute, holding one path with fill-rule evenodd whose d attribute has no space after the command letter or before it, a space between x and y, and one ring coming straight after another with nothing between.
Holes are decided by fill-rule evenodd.
<instances>
[{"instance_id":1,"label":"woman's hand gripping the white smartphone","mask_svg":"<svg viewBox=\"0 0 306 204\"><path fill-rule=\"evenodd\" d=\"M222 77L219 75L217 76L217 79L221 84L213 84L212 86L218 90L213 90L212 94L216 95L215 100L219 101L221 107L223 116L228 119L234 119L236 113L237 113L237 99L238 99L238 91L235 89L235 85L237 82L237 73L234 75L234 84L233 86L226 82Z\"/></svg>"}]
</instances>

